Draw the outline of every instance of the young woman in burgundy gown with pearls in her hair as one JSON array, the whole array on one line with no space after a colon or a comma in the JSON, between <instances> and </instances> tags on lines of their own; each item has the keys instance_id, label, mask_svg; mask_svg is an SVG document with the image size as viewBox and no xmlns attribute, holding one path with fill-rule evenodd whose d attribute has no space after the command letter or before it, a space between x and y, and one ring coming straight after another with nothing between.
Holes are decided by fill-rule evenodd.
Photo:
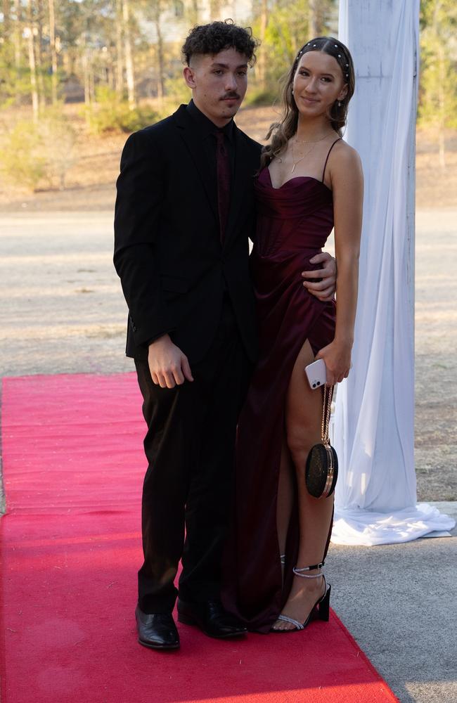
<instances>
[{"instance_id":1,"label":"young woman in burgundy gown with pearls in her hair","mask_svg":"<svg viewBox=\"0 0 457 703\"><path fill-rule=\"evenodd\" d=\"M347 48L318 37L298 52L256 183L251 257L260 358L238 425L236 612L257 631L302 629L328 619L323 561L333 496L313 498L304 481L321 441L322 394L304 368L326 363L327 384L349 374L356 314L363 176L342 139L354 93ZM319 300L301 278L335 227L337 301Z\"/></svg>"}]
</instances>

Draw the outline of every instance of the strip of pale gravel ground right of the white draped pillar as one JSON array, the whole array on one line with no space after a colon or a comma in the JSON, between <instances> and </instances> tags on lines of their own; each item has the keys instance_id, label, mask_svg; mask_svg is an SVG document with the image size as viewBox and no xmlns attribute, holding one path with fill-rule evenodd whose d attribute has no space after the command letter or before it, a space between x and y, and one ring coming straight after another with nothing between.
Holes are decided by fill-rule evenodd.
<instances>
[{"instance_id":1,"label":"strip of pale gravel ground right of the white draped pillar","mask_svg":"<svg viewBox=\"0 0 457 703\"><path fill-rule=\"evenodd\" d=\"M416 473L420 499L457 499L457 210L416 217Z\"/></svg>"}]
</instances>

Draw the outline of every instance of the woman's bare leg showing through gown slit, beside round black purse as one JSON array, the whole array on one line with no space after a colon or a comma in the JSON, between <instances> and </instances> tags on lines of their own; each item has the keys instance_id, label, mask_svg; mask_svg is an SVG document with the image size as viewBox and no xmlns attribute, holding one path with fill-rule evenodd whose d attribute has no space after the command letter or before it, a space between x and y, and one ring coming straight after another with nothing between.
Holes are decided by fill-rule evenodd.
<instances>
[{"instance_id":1,"label":"woman's bare leg showing through gown slit, beside round black purse","mask_svg":"<svg viewBox=\"0 0 457 703\"><path fill-rule=\"evenodd\" d=\"M300 522L298 567L307 567L322 561L333 512L333 496L313 498L304 482L309 450L321 441L322 394L319 390L311 390L304 373L304 367L312 361L314 354L309 342L305 342L292 370L285 414L288 448L297 477ZM316 573L318 569L307 572L309 575ZM324 590L322 578L302 579L300 576L294 576L283 614L304 622ZM292 624L281 620L276 621L274 625L274 629L293 628Z\"/></svg>"}]
</instances>

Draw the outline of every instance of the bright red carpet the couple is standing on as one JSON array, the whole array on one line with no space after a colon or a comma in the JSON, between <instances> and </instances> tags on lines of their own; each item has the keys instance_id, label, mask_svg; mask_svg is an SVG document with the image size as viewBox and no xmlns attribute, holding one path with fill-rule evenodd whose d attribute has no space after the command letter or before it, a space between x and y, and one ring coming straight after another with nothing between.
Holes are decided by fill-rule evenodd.
<instances>
[{"instance_id":1,"label":"bright red carpet the couple is standing on","mask_svg":"<svg viewBox=\"0 0 457 703\"><path fill-rule=\"evenodd\" d=\"M332 614L304 633L136 643L145 468L132 374L6 378L2 703L396 701Z\"/></svg>"}]
</instances>

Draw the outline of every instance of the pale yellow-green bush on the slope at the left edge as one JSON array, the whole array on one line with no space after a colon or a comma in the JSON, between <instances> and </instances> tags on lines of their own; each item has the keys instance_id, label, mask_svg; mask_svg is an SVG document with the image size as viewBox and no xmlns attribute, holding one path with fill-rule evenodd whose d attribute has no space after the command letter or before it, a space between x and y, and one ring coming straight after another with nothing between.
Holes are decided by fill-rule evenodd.
<instances>
[{"instance_id":1,"label":"pale yellow-green bush on the slope at the left edge","mask_svg":"<svg viewBox=\"0 0 457 703\"><path fill-rule=\"evenodd\" d=\"M4 177L32 191L39 187L64 188L72 166L75 131L58 108L46 110L39 122L21 120L0 150Z\"/></svg>"}]
</instances>

